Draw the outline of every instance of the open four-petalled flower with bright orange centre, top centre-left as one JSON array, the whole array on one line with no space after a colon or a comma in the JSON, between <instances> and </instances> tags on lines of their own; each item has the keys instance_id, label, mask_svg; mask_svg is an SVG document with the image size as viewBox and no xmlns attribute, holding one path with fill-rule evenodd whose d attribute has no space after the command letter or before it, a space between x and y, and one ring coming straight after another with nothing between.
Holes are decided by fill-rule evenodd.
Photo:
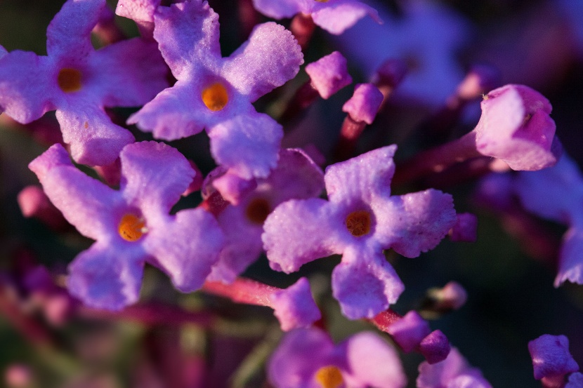
<instances>
[{"instance_id":1,"label":"open four-petalled flower with bright orange centre, top centre-left","mask_svg":"<svg viewBox=\"0 0 583 388\"><path fill-rule=\"evenodd\" d=\"M128 123L164 140L207 128L218 164L243 179L265 178L277 163L283 131L251 102L298 73L303 55L292 33L274 22L258 25L222 58L218 15L206 1L159 7L154 20L154 38L178 81Z\"/></svg>"}]
</instances>

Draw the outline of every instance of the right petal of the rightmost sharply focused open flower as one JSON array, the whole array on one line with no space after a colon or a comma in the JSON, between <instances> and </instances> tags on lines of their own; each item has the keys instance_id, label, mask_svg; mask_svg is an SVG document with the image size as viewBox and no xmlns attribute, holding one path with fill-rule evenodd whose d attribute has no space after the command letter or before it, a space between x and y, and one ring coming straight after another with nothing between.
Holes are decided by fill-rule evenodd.
<instances>
[{"instance_id":1,"label":"right petal of the rightmost sharply focused open flower","mask_svg":"<svg viewBox=\"0 0 583 388\"><path fill-rule=\"evenodd\" d=\"M452 196L435 189L374 201L372 208L375 239L405 257L435 248L457 219Z\"/></svg>"}]
</instances>

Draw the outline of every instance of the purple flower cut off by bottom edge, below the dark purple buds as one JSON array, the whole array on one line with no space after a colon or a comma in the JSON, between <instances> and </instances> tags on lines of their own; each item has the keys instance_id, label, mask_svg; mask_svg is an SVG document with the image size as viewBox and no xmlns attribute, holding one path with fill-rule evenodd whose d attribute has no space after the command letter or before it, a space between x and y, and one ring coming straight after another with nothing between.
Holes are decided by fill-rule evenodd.
<instances>
[{"instance_id":1,"label":"purple flower cut off by bottom edge, below the dark purple buds","mask_svg":"<svg viewBox=\"0 0 583 388\"><path fill-rule=\"evenodd\" d=\"M477 368L471 368L456 348L440 363L419 365L417 388L492 388Z\"/></svg>"}]
</instances>

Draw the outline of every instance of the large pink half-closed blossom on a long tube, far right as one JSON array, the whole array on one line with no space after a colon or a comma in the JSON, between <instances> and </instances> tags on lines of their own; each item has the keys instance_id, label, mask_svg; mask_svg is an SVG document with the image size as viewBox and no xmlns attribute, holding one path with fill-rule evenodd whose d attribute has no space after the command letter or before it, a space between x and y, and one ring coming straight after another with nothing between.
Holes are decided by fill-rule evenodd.
<instances>
[{"instance_id":1,"label":"large pink half-closed blossom on a long tube, far right","mask_svg":"<svg viewBox=\"0 0 583 388\"><path fill-rule=\"evenodd\" d=\"M473 130L480 154L502 159L513 170L540 170L560 156L551 104L523 85L506 85L486 95Z\"/></svg>"}]
</instances>

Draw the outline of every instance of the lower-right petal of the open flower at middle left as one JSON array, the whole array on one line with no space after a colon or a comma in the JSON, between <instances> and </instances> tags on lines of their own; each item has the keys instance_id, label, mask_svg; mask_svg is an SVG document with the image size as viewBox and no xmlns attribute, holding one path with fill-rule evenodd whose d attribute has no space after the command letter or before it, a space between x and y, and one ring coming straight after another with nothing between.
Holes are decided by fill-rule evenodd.
<instances>
[{"instance_id":1,"label":"lower-right petal of the open flower at middle left","mask_svg":"<svg viewBox=\"0 0 583 388\"><path fill-rule=\"evenodd\" d=\"M183 293L198 290L223 248L223 232L214 217L202 208L181 210L148 228L143 246L154 257L152 265Z\"/></svg>"}]
</instances>

